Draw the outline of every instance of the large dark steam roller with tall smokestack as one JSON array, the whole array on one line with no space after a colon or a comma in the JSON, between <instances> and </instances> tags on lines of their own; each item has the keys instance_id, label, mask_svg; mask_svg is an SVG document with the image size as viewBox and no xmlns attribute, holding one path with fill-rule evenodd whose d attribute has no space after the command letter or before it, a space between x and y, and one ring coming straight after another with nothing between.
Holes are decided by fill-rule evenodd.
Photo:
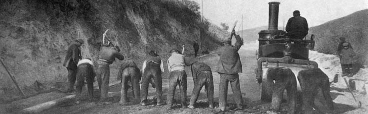
<instances>
[{"instance_id":1,"label":"large dark steam roller with tall smokestack","mask_svg":"<svg viewBox=\"0 0 368 114\"><path fill-rule=\"evenodd\" d=\"M309 60L309 50L312 50L315 44L314 35L311 35L308 40L296 39L287 36L286 31L278 30L279 4L280 2L269 2L268 29L258 33L259 49L256 53L258 65L255 73L262 88L261 100L265 102L270 102L272 99L272 90L267 81L269 67L290 68L295 76L298 76L301 70L318 68L317 62ZM297 83L300 92L298 79Z\"/></svg>"}]
</instances>

